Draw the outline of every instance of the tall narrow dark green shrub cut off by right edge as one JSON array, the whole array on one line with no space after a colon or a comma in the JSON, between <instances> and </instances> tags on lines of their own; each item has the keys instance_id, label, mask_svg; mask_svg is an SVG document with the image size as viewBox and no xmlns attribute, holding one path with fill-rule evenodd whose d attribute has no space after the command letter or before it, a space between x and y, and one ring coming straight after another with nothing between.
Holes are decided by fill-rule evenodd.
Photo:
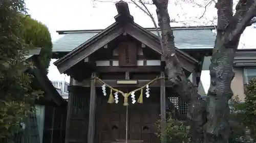
<instances>
[{"instance_id":1,"label":"tall narrow dark green shrub cut off by right edge","mask_svg":"<svg viewBox=\"0 0 256 143\"><path fill-rule=\"evenodd\" d=\"M244 124L251 130L251 137L256 138L256 78L245 86Z\"/></svg>"}]
</instances>

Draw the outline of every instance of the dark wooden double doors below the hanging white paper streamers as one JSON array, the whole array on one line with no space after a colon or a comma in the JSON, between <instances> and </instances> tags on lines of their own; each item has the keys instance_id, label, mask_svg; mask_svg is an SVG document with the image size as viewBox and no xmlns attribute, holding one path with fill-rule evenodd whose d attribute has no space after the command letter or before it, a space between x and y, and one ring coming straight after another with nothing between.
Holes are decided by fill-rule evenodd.
<instances>
[{"instance_id":1,"label":"dark wooden double doors below the hanging white paper streamers","mask_svg":"<svg viewBox=\"0 0 256 143\"><path fill-rule=\"evenodd\" d=\"M113 142L125 139L126 106L122 102L108 104L107 100L100 105L98 124L98 142ZM120 100L123 101L123 100ZM143 140L144 143L159 143L156 121L159 119L158 103L131 104L128 106L129 140Z\"/></svg>"}]
</instances>

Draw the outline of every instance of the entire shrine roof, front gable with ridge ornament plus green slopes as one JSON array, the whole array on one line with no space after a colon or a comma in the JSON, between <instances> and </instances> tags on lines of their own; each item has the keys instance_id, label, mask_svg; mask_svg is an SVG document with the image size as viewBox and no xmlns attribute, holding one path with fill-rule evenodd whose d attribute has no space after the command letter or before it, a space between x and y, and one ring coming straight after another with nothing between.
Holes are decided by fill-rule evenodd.
<instances>
[{"instance_id":1,"label":"entire shrine roof, front gable with ridge ornament plus green slopes","mask_svg":"<svg viewBox=\"0 0 256 143\"><path fill-rule=\"evenodd\" d=\"M146 30L145 28L136 24L133 21L133 17L130 15L127 3L118 2L116 4L116 7L117 7L117 11L119 12L118 15L115 16L116 22L113 23L112 25L110 25L109 27L107 27L103 31L99 32L97 30L91 30L91 31L87 31L86 33L84 33L84 31L59 31L59 33L61 33L61 34L66 34L66 38L70 37L71 39L73 38L72 40L76 39L77 41L79 41L79 38L83 37L83 36L81 36L81 34L93 33L92 35L94 35L87 41L81 40L82 39L81 38L80 41L77 42L76 44L65 43L69 40L66 40L66 41L62 41L61 39L59 40L59 42L61 42L61 41L63 42L63 43L61 43L63 46L65 45L67 47L66 51L71 50L68 54L66 54L61 59L59 59L58 61L56 61L54 63L54 65L57 66L60 73L65 72L66 70L68 70L69 68L71 68L72 66L74 66L75 64L77 64L78 62L80 62L81 60L83 60L84 58L86 58L87 56L92 54L93 52L95 52L96 50L98 50L99 48L103 47L105 44L108 44L110 41L114 40L119 35L123 34L124 32L126 32L128 35L131 35L138 41L141 41L142 43L144 43L148 47L152 48L159 54L162 54L161 45L159 43L158 37L154 34L154 31L153 31L154 28L148 28ZM180 44L177 44L177 43L176 44L180 47L188 47L189 46L189 47L195 47L195 48L202 47L204 49L205 48L211 49L211 48L213 48L214 41L215 41L215 35L214 35L214 33L211 32L212 29L213 29L213 27L211 27L211 26L208 26L208 27L186 27L185 29L184 29L184 27L183 28L177 27L176 30L179 31L178 33L181 33L181 35L183 35L183 36L180 37L180 39L178 39ZM195 31L197 31L197 32L195 32ZM190 35L186 36L187 33L190 33ZM84 36L86 36L86 38L90 37L88 35L84 35ZM202 36L203 38L206 38L206 39L199 41L198 40L199 36ZM65 38L65 37L63 37L63 38ZM193 44L191 45L189 43L191 41L195 42L194 45ZM56 43L58 43L58 41L55 42L55 45L56 45ZM77 47L74 48L74 46L77 46ZM53 48L53 50L55 50L55 49ZM190 64L188 71L191 72L193 70L193 69L191 69L191 67L195 66L198 61L196 61L194 58L191 58L191 56L189 56L185 52L182 52L178 48L176 50L177 50L178 56L181 57L181 59L185 59L186 63ZM55 50L55 51L57 51L57 50ZM62 50L62 51L65 51L65 50ZM187 65L187 64L183 64L183 65ZM191 65L193 65L193 66L191 66ZM183 66L183 68L184 68L184 66Z\"/></svg>"}]
</instances>

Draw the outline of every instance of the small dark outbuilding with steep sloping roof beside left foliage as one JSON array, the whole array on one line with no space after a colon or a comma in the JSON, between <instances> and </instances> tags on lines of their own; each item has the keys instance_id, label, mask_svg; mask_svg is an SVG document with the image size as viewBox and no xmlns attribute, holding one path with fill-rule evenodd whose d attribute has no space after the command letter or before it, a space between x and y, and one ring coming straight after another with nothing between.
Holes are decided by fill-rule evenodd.
<instances>
[{"instance_id":1,"label":"small dark outbuilding with steep sloping roof beside left foliage","mask_svg":"<svg viewBox=\"0 0 256 143\"><path fill-rule=\"evenodd\" d=\"M66 132L67 101L47 77L46 69L38 58L41 48L31 48L25 56L33 66L24 69L31 76L31 88L42 91L35 100L35 112L23 119L22 130L13 135L15 143L64 143Z\"/></svg>"}]
</instances>

